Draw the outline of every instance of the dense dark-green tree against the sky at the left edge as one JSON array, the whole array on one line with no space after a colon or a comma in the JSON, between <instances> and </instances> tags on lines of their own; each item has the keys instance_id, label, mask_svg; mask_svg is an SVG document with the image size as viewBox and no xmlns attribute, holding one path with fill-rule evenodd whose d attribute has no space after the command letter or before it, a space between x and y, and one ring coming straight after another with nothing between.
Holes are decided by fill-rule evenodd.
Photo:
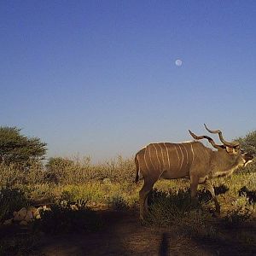
<instances>
[{"instance_id":1,"label":"dense dark-green tree against the sky at the left edge","mask_svg":"<svg viewBox=\"0 0 256 256\"><path fill-rule=\"evenodd\" d=\"M47 148L38 137L26 137L17 127L0 126L0 164L29 166L44 159Z\"/></svg>"}]
</instances>

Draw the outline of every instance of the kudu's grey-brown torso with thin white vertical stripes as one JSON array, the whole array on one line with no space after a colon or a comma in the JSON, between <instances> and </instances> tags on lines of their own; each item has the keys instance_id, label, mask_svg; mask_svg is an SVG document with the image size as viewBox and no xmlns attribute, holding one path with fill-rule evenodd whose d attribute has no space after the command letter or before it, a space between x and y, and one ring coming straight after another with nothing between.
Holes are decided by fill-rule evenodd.
<instances>
[{"instance_id":1,"label":"kudu's grey-brown torso with thin white vertical stripes","mask_svg":"<svg viewBox=\"0 0 256 256\"><path fill-rule=\"evenodd\" d=\"M189 177L190 166L204 148L198 142L148 144L136 154L137 173L154 179Z\"/></svg>"}]
</instances>

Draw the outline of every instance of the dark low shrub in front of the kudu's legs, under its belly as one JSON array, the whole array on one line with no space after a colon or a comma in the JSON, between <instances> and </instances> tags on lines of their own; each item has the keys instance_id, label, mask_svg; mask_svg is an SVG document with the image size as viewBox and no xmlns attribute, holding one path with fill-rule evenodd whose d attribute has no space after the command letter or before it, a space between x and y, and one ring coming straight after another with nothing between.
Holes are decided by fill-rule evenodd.
<instances>
[{"instance_id":1,"label":"dark low shrub in front of the kudu's legs, under its belly","mask_svg":"<svg viewBox=\"0 0 256 256\"><path fill-rule=\"evenodd\" d=\"M202 194L206 194L201 192ZM153 191L153 203L149 207L148 224L170 226L175 224L178 230L189 236L214 238L218 229L212 225L212 215L204 203L206 197L201 195L200 203L191 201L189 189L186 191Z\"/></svg>"}]
</instances>

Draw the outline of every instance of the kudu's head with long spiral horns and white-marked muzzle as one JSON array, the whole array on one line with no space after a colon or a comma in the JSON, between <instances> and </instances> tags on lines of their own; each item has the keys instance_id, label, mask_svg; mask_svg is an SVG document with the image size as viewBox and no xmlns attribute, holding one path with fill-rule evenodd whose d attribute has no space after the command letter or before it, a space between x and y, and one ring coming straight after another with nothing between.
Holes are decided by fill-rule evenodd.
<instances>
[{"instance_id":1,"label":"kudu's head with long spiral horns and white-marked muzzle","mask_svg":"<svg viewBox=\"0 0 256 256\"><path fill-rule=\"evenodd\" d=\"M253 155L248 154L242 148L240 143L230 143L224 140L222 132L219 130L210 130L207 128L207 125L204 124L207 131L210 133L218 133L219 140L223 143L222 145L214 143L211 137L207 135L196 136L195 133L189 130L189 133L195 140L200 140L206 138L209 143L212 144L213 148L217 148L218 152L223 154L228 159L233 159L237 162L237 166L247 166L248 163L253 161Z\"/></svg>"}]
</instances>

